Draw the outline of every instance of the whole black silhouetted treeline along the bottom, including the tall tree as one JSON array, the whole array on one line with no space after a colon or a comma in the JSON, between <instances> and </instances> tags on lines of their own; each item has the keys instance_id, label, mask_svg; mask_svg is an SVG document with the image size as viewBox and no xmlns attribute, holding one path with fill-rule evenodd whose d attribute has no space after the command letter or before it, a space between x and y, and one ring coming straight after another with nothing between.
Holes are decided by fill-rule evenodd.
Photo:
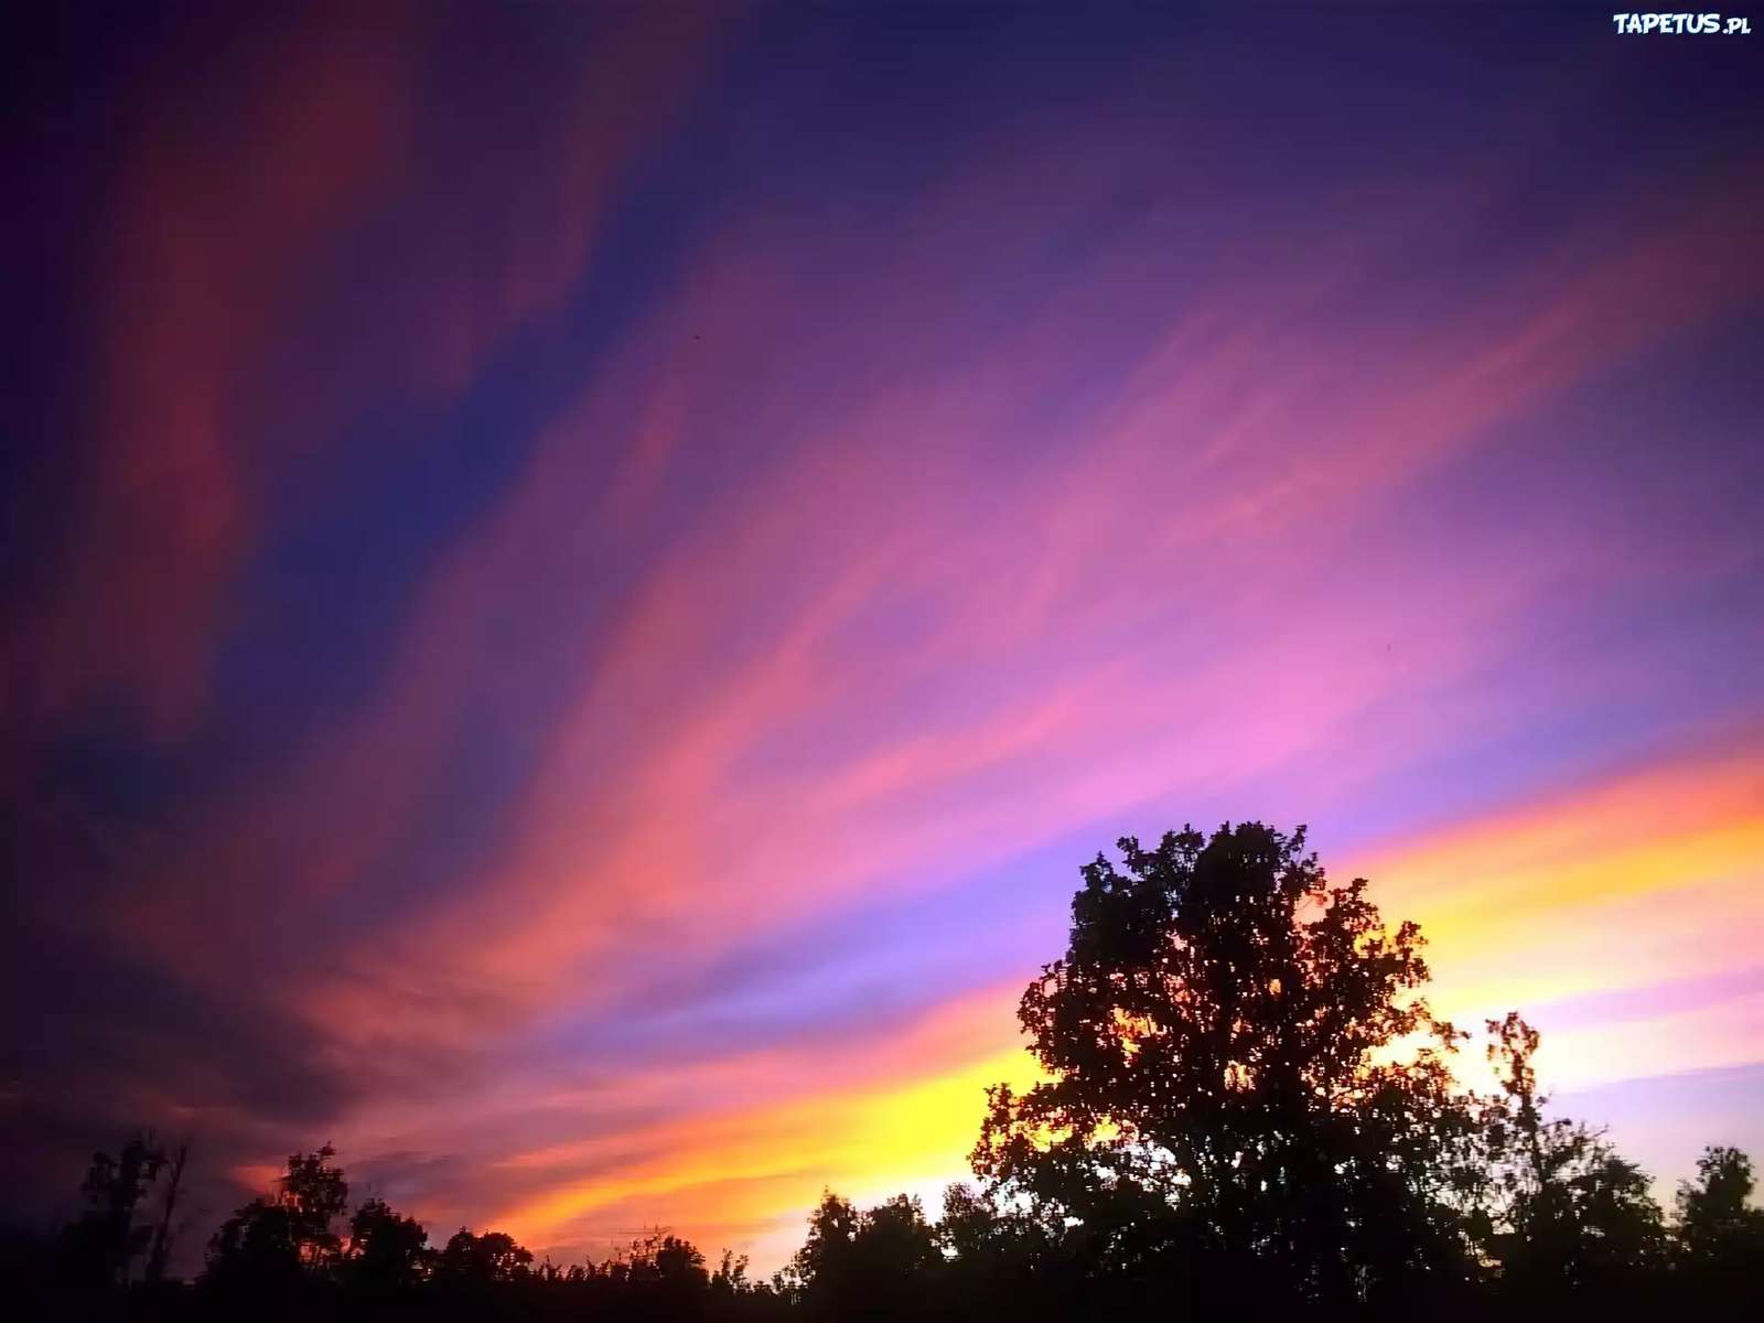
<instances>
[{"instance_id":1,"label":"whole black silhouetted treeline along the bottom, including the tall tree","mask_svg":"<svg viewBox=\"0 0 1764 1323\"><path fill-rule=\"evenodd\" d=\"M1097 856L1020 1005L1043 1081L988 1092L975 1182L937 1221L829 1192L767 1281L665 1231L575 1265L497 1231L430 1244L381 1200L351 1208L328 1147L171 1281L189 1148L138 1138L93 1157L58 1238L12 1244L5 1295L164 1319L1764 1316L1752 1161L1708 1148L1663 1210L1602 1131L1547 1113L1517 1014L1485 1025L1494 1087L1464 1087L1418 928L1304 840L1189 827Z\"/></svg>"}]
</instances>

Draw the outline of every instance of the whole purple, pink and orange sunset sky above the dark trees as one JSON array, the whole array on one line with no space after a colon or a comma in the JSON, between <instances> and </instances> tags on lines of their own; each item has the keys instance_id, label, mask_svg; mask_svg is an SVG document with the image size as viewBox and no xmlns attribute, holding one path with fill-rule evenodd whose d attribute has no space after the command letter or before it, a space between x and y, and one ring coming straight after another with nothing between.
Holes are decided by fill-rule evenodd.
<instances>
[{"instance_id":1,"label":"whole purple, pink and orange sunset sky above the dark trees","mask_svg":"<svg viewBox=\"0 0 1764 1323\"><path fill-rule=\"evenodd\" d=\"M153 1125L191 1261L333 1143L769 1270L1245 818L1662 1191L1764 1157L1764 32L5 21L5 1217Z\"/></svg>"}]
</instances>

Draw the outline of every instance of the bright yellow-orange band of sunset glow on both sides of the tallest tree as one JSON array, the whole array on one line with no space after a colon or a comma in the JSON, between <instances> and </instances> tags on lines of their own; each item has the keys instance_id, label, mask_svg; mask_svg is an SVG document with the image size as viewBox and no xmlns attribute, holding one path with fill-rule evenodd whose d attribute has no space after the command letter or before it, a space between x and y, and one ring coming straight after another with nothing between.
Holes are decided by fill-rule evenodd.
<instances>
[{"instance_id":1,"label":"bright yellow-orange band of sunset glow on both sides of the tallest tree","mask_svg":"<svg viewBox=\"0 0 1764 1323\"><path fill-rule=\"evenodd\" d=\"M1561 998L1743 967L1755 949L1748 935L1764 933L1760 783L1750 759L1681 762L1346 863L1371 877L1387 919L1422 923L1436 1007L1480 1028L1480 1014L1506 1005L1547 1011ZM967 1175L984 1087L1021 1087L1035 1076L1007 991L940 1007L875 1044L871 1069L826 1090L803 1090L801 1064L725 1065L792 1083L773 1102L713 1108L624 1136L642 1157L561 1180L494 1222L534 1247L603 1245L619 1230L667 1224L776 1267L801 1242L803 1217L824 1189L859 1203L907 1191L935 1210L942 1185ZM1757 1060L1764 991L1708 1005L1644 1005L1616 1023L1559 1032L1547 1020L1547 1083L1588 1085ZM1480 1043L1461 1058L1476 1083L1480 1058ZM607 1155L563 1145L515 1154L505 1166L566 1168Z\"/></svg>"}]
</instances>

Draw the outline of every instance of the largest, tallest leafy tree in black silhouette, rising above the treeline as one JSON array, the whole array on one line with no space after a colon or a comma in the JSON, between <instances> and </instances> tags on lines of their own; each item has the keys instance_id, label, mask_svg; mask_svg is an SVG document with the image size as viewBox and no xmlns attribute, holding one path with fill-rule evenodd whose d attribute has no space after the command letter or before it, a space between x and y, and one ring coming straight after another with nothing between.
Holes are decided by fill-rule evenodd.
<instances>
[{"instance_id":1,"label":"largest, tallest leafy tree in black silhouette, rising above the treeline","mask_svg":"<svg viewBox=\"0 0 1764 1323\"><path fill-rule=\"evenodd\" d=\"M1304 829L1097 856L1071 942L1023 993L1048 1078L991 1090L974 1152L1101 1270L1316 1304L1438 1293L1469 1265L1454 1180L1476 1117L1415 924L1330 886ZM1203 1270L1205 1267L1205 1270Z\"/></svg>"}]
</instances>

